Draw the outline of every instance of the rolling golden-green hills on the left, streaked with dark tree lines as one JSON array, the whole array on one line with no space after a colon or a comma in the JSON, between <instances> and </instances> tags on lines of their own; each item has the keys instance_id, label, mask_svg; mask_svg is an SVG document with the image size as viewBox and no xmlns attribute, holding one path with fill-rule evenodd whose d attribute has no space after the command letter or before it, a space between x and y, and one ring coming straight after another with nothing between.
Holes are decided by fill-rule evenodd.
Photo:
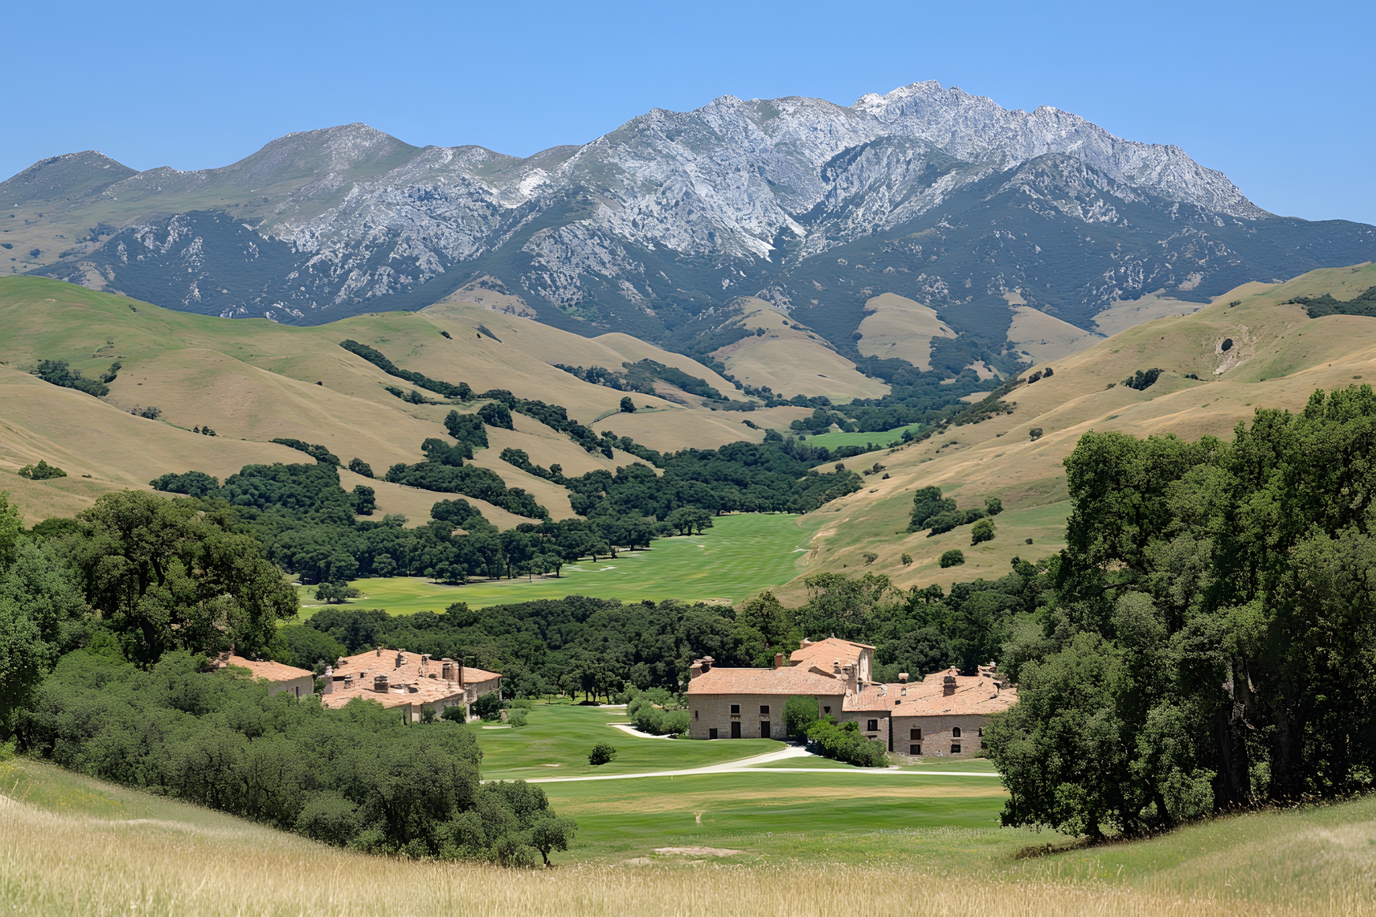
<instances>
[{"instance_id":1,"label":"rolling golden-green hills on the left, streaked with dark tree lines","mask_svg":"<svg viewBox=\"0 0 1376 917\"><path fill-rule=\"evenodd\" d=\"M484 327L488 333L479 330ZM634 395L636 414L618 410L622 392L583 382L552 363L619 368L623 360L654 359L718 389L733 390L710 368L626 335L582 338L479 305L443 304L421 312L362 315L315 327L259 319L219 319L172 312L120 296L40 278L0 279L0 469L30 521L72 513L100 492L147 487L164 472L204 470L224 477L249 462L300 461L270 440L318 443L345 463L358 456L381 473L420 459L420 444L444 436L447 404L410 404L387 392L410 389L338 342L354 338L399 366L475 390L506 389L519 397L563 404L570 415L658 450L758 441L764 433L739 412L711 411L702 400L665 386L663 396ZM87 377L114 362L117 378L105 399L63 389L28 374L40 360L65 360ZM133 408L158 407L155 421ZM475 410L468 406L464 410ZM783 425L804 414L786 411ZM217 436L194 433L209 426ZM538 421L516 415L515 430L493 430L491 448L475 463L523 487L559 517L571 516L567 492L499 461L504 448L524 450L537 465L563 465L571 474L614 470L636 459L590 454ZM12 474L45 459L67 470L56 481ZM89 476L89 477L85 477ZM351 488L362 478L343 473ZM428 517L433 494L385 481L378 510ZM509 527L519 517L475 502L488 520Z\"/></svg>"}]
</instances>

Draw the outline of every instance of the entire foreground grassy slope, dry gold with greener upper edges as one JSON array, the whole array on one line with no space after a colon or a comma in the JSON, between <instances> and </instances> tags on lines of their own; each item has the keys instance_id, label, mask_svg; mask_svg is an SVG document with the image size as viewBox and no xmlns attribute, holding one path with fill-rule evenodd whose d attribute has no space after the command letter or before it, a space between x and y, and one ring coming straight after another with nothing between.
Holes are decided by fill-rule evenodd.
<instances>
[{"instance_id":1,"label":"entire foreground grassy slope, dry gold with greener upper edges","mask_svg":"<svg viewBox=\"0 0 1376 917\"><path fill-rule=\"evenodd\" d=\"M881 858L969 843L947 833L872 843ZM1373 847L1368 797L984 874L674 855L515 872L367 857L51 764L0 766L0 909L23 914L1373 914Z\"/></svg>"}]
</instances>

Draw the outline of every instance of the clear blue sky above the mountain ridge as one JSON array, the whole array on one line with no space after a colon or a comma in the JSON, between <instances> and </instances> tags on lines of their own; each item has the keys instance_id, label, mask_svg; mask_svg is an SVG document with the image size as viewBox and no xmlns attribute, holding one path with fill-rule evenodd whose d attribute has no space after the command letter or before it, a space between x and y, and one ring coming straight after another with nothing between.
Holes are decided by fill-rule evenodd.
<instances>
[{"instance_id":1,"label":"clear blue sky above the mountain ridge","mask_svg":"<svg viewBox=\"0 0 1376 917\"><path fill-rule=\"evenodd\" d=\"M1376 4L10 4L0 173L226 165L363 121L526 155L718 95L919 80L1175 143L1260 206L1376 223Z\"/></svg>"}]
</instances>

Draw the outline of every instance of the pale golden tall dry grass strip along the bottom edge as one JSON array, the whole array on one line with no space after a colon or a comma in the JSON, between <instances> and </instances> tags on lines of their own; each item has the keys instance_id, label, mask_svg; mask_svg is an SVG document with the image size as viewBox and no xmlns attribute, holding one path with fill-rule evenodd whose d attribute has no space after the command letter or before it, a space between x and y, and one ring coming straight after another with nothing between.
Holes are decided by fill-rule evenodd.
<instances>
[{"instance_id":1,"label":"pale golden tall dry grass strip along the bottom edge","mask_svg":"<svg viewBox=\"0 0 1376 917\"><path fill-rule=\"evenodd\" d=\"M175 804L168 803L171 810ZM168 811L168 814L173 814ZM1222 891L1222 890L1221 890ZM864 866L384 859L230 818L105 819L0 797L0 907L23 914L1232 914L1372 913L1370 885L1258 907L1222 894L949 880Z\"/></svg>"}]
</instances>

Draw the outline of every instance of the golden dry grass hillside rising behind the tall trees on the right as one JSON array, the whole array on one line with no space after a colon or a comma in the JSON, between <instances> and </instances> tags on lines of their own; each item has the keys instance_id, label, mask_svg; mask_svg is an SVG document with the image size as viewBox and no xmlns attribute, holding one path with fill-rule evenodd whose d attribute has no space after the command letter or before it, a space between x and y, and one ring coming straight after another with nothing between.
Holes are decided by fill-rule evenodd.
<instances>
[{"instance_id":1,"label":"golden dry grass hillside rising behind the tall trees on the right","mask_svg":"<svg viewBox=\"0 0 1376 917\"><path fill-rule=\"evenodd\" d=\"M949 584L1000 576L1014 555L1035 560L1064 542L1069 502L1064 459L1088 430L1185 439L1226 436L1259 407L1298 410L1314 389L1376 381L1376 319L1310 319L1295 296L1351 298L1376 286L1376 264L1311 271L1287 283L1248 283L1190 315L1128 327L1069 356L1040 362L1055 374L1021 384L1011 415L955 426L925 443L848 459L852 467L883 463L888 480L817 510L809 571L882 572L899 586ZM1234 305L1236 304L1236 305ZM1137 370L1160 367L1145 390L1123 385ZM1198 378L1187 378L1197 375ZM1032 439L1031 430L1042 436ZM905 532L912 494L938 485L958 505L980 507L999 496L992 542L971 547L970 528L927 538ZM1028 542L1031 539L1031 542ZM941 569L940 555L965 551L963 566ZM878 558L866 564L867 553ZM901 564L910 554L912 564ZM801 593L801 582L780 590Z\"/></svg>"}]
</instances>

